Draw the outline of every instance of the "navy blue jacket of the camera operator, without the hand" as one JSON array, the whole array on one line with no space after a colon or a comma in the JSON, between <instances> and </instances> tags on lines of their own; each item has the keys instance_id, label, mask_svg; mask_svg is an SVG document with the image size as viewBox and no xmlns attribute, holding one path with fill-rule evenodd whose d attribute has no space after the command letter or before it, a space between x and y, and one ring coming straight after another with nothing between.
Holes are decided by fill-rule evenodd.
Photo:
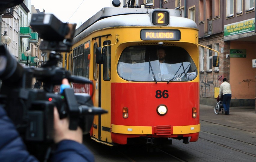
<instances>
[{"instance_id":1,"label":"navy blue jacket of the camera operator, without the hand","mask_svg":"<svg viewBox=\"0 0 256 162\"><path fill-rule=\"evenodd\" d=\"M0 106L0 162L38 162L29 154L11 119ZM52 162L94 161L93 154L83 144L72 140L63 140L57 144Z\"/></svg>"}]
</instances>

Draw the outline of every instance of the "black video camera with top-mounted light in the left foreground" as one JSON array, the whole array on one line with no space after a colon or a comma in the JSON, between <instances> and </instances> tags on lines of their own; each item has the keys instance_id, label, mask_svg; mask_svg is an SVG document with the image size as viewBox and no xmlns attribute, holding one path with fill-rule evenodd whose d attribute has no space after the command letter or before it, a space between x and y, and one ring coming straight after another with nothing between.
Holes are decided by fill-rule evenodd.
<instances>
[{"instance_id":1,"label":"black video camera with top-mounted light in the left foreground","mask_svg":"<svg viewBox=\"0 0 256 162\"><path fill-rule=\"evenodd\" d=\"M90 131L93 115L107 113L93 107L91 96L74 93L73 88L65 88L63 93L54 93L55 85L62 79L69 82L92 84L82 76L73 76L63 68L57 67L60 54L69 51L76 24L62 23L53 14L33 14L32 29L38 32L41 50L49 50L49 60L41 67L22 67L9 54L5 46L0 46L0 104L16 125L26 142L53 142L53 108L57 107L60 118L69 118L69 129L80 126L84 134ZM44 83L44 90L32 89L32 80Z\"/></svg>"}]
</instances>

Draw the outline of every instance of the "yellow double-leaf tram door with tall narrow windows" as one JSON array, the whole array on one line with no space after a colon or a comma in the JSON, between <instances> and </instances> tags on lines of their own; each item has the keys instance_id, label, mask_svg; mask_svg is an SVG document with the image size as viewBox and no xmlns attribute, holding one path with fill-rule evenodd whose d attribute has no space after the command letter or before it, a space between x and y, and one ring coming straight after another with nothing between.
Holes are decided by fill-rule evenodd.
<instances>
[{"instance_id":1,"label":"yellow double-leaf tram door with tall narrow windows","mask_svg":"<svg viewBox=\"0 0 256 162\"><path fill-rule=\"evenodd\" d=\"M93 137L97 140L111 143L111 46L106 46L104 64L96 64L96 48L111 44L111 36L93 39L93 82L94 106L107 110L108 113L94 116Z\"/></svg>"}]
</instances>

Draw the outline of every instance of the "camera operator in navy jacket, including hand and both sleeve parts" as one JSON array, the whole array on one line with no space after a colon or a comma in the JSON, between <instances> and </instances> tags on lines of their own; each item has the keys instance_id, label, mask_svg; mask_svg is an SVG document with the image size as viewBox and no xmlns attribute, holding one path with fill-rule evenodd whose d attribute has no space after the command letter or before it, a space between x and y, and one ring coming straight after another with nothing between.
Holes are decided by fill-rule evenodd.
<instances>
[{"instance_id":1,"label":"camera operator in navy jacket, including hand and both sleeve parts","mask_svg":"<svg viewBox=\"0 0 256 162\"><path fill-rule=\"evenodd\" d=\"M65 80L65 79L63 79ZM62 82L66 84L67 80ZM59 119L57 108L54 108L54 141L56 150L52 162L93 162L93 154L82 144L81 128L69 130L69 120ZM26 150L18 131L5 110L0 106L0 162L37 162L38 160Z\"/></svg>"}]
</instances>

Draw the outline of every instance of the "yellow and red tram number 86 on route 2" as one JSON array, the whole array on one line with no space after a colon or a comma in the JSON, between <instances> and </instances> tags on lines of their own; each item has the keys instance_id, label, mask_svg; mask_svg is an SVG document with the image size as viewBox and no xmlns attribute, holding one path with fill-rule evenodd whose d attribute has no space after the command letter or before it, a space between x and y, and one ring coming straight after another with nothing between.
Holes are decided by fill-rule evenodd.
<instances>
[{"instance_id":1,"label":"yellow and red tram number 86 on route 2","mask_svg":"<svg viewBox=\"0 0 256 162\"><path fill-rule=\"evenodd\" d=\"M198 29L178 10L103 8L76 30L64 63L93 81L72 83L75 92L93 95L94 106L108 110L94 117L93 140L109 146L198 140Z\"/></svg>"}]
</instances>

